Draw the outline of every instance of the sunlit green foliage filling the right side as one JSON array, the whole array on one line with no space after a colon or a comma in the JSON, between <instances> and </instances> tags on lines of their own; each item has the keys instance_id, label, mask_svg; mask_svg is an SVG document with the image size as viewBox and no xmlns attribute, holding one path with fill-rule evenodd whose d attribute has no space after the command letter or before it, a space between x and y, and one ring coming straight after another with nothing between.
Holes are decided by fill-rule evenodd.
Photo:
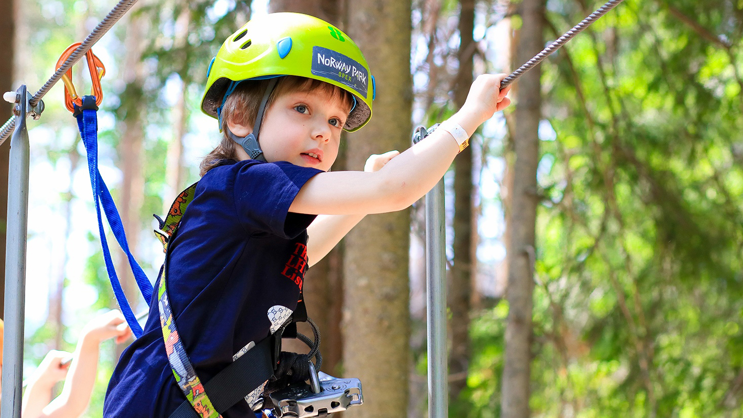
<instances>
[{"instance_id":1,"label":"sunlit green foliage filling the right side","mask_svg":"<svg viewBox=\"0 0 743 418\"><path fill-rule=\"evenodd\" d=\"M740 39L739 4L672 7ZM626 2L551 60L533 414L741 416L737 45Z\"/></svg>"}]
</instances>

